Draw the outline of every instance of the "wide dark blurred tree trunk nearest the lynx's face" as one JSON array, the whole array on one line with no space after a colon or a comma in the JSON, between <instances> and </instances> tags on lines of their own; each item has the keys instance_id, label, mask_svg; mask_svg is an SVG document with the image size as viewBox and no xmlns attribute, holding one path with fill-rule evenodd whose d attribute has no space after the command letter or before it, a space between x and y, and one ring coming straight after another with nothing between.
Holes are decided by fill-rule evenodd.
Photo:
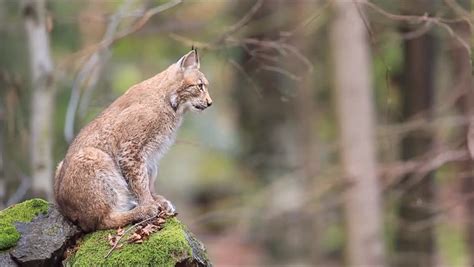
<instances>
[{"instance_id":1,"label":"wide dark blurred tree trunk nearest the lynx's face","mask_svg":"<svg viewBox=\"0 0 474 267\"><path fill-rule=\"evenodd\" d=\"M291 24L291 14L295 15L298 12L297 4L296 1L292 3L263 1L246 24L248 31L251 32L248 38L262 41L278 39L279 32L283 28L281 25ZM240 19L255 5L255 1L239 1L238 5L236 10L240 14L237 18ZM286 14L275 15L280 9L287 10ZM263 23L267 21L272 23ZM254 25L256 26L251 28ZM302 112L296 110L296 106L301 104L297 99L300 96L296 95L303 91L309 95L310 88L302 88L307 84L295 84L281 73L266 70L267 66L287 70L297 59L281 55L278 49L266 46L264 42L246 45L239 54L241 56L238 60L238 72L242 76L236 79L233 99L239 114L239 129L244 140L242 143L245 144L241 148L242 166L262 183L270 184L284 180L283 177L288 173L292 176L291 180L285 181L285 186L275 188L271 196L266 199L266 212L278 214L279 217L273 217L271 221L263 219L267 221L258 223L259 227L263 226L265 230L258 231L257 239L262 241L267 253L271 254L270 258L274 260L269 264L308 263L312 260L311 242L315 242L314 236L309 233L313 218L299 203L302 203L307 191L310 191L306 190L308 183L305 185L309 167L303 165L311 164L307 161L312 155L299 154L306 153L311 144L306 143L304 148L299 147L299 144L304 142L300 137L308 134L306 132L308 128L298 128L299 123L304 122L300 122L297 117L299 115L296 114ZM287 64L282 66L280 62ZM308 104L311 99L304 101ZM305 120L312 120L311 114L305 114ZM301 164L299 160L305 162ZM282 201L289 198L291 201Z\"/></svg>"}]
</instances>

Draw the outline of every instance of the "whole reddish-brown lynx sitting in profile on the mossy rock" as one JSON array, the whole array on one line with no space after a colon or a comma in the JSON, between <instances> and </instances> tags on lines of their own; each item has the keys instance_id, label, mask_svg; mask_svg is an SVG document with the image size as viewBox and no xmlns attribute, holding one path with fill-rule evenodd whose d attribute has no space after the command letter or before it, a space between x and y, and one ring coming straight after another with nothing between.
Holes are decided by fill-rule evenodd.
<instances>
[{"instance_id":1,"label":"whole reddish-brown lynx sitting in profile on the mossy rock","mask_svg":"<svg viewBox=\"0 0 474 267\"><path fill-rule=\"evenodd\" d=\"M211 106L196 50L138 83L85 126L58 165L54 196L84 231L144 220L174 206L155 194L157 164L188 110Z\"/></svg>"}]
</instances>

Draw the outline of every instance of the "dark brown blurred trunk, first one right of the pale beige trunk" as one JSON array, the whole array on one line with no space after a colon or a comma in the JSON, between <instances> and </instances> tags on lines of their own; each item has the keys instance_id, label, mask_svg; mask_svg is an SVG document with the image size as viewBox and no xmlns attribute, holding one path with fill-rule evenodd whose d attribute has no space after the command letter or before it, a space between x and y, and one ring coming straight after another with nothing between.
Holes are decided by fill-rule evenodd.
<instances>
[{"instance_id":1,"label":"dark brown blurred trunk, first one right of the pale beige trunk","mask_svg":"<svg viewBox=\"0 0 474 267\"><path fill-rule=\"evenodd\" d=\"M432 1L403 2L405 13L422 15L432 10ZM409 29L406 29L409 30ZM404 41L404 73L401 98L403 118L417 114L431 117L434 95L435 40L430 32ZM411 160L432 148L431 134L414 131L402 140L402 158ZM415 181L416 180L416 181ZM415 181L415 182L414 182ZM402 197L398 210L396 251L397 266L434 265L434 225L432 210L435 192L432 174L407 175L400 183ZM418 227L422 222L430 222Z\"/></svg>"}]
</instances>

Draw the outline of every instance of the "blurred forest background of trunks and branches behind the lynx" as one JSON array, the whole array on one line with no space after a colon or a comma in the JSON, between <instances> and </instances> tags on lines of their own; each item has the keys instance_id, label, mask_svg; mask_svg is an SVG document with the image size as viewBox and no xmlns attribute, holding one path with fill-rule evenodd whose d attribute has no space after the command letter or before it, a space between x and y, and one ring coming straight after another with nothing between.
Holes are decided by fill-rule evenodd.
<instances>
[{"instance_id":1,"label":"blurred forest background of trunks and branches behind the lynx","mask_svg":"<svg viewBox=\"0 0 474 267\"><path fill-rule=\"evenodd\" d=\"M0 206L51 200L74 135L194 45L214 105L156 187L216 266L472 266L472 8L2 0Z\"/></svg>"}]
</instances>

